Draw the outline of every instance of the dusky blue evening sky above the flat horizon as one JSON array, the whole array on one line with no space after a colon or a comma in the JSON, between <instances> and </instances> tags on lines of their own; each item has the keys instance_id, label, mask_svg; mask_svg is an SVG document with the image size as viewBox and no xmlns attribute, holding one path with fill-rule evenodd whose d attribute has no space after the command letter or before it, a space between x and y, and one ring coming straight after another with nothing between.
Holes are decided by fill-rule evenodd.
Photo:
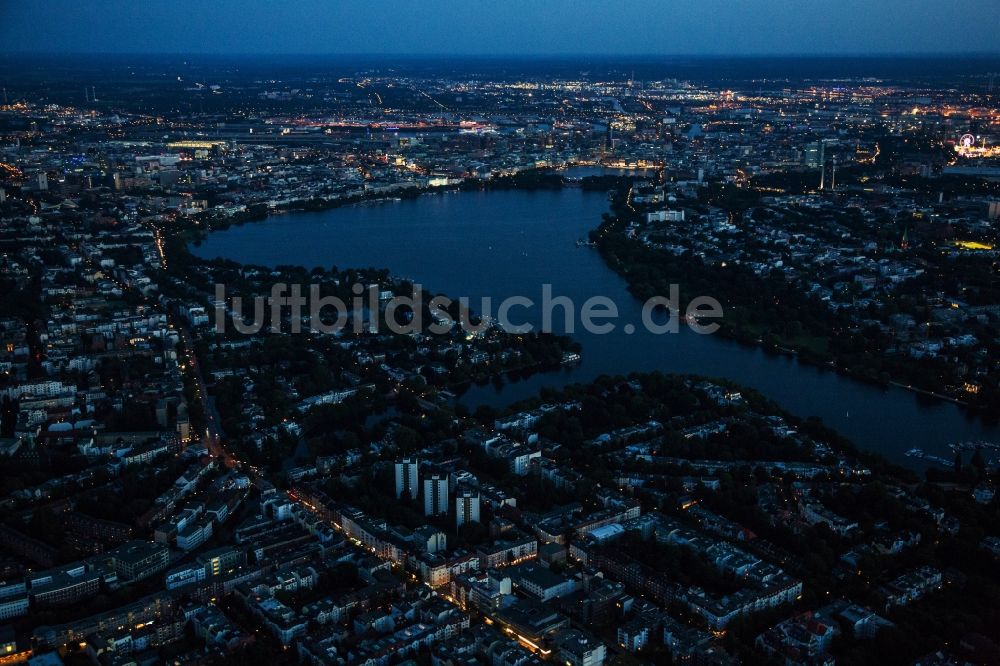
<instances>
[{"instance_id":1,"label":"dusky blue evening sky above the flat horizon","mask_svg":"<svg viewBox=\"0 0 1000 666\"><path fill-rule=\"evenodd\" d=\"M1000 0L0 0L0 51L997 52Z\"/></svg>"}]
</instances>

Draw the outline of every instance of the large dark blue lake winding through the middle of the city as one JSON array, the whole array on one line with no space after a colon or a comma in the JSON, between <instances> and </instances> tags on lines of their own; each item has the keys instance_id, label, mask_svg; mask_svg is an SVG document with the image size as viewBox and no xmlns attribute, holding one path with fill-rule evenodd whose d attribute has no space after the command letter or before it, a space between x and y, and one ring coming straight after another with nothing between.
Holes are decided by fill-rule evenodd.
<instances>
[{"instance_id":1,"label":"large dark blue lake winding through the middle of the city","mask_svg":"<svg viewBox=\"0 0 1000 666\"><path fill-rule=\"evenodd\" d=\"M546 283L554 296L568 296L578 309L592 296L615 302L619 317L612 333L598 335L576 327L574 337L583 346L579 365L499 388L473 386L462 397L470 407L507 405L545 386L586 382L601 374L661 370L725 377L751 386L789 411L819 416L858 446L912 468L922 467L904 456L913 447L950 458L948 443L1000 439L1000 428L950 403L903 389L882 389L793 358L699 335L684 324L678 334L647 332L639 325L642 304L628 293L624 280L596 250L576 244L606 210L603 194L579 189L430 195L277 216L216 232L192 251L204 258L268 266L385 267L431 291L468 296L477 311L483 309L479 299L484 296L493 299L494 311L500 300L513 295L540 303ZM682 275L676 278L683 280ZM525 318L537 324L540 311L534 308ZM529 314L514 310L512 320L519 322L519 313ZM628 322L636 325L634 334L624 332Z\"/></svg>"}]
</instances>

